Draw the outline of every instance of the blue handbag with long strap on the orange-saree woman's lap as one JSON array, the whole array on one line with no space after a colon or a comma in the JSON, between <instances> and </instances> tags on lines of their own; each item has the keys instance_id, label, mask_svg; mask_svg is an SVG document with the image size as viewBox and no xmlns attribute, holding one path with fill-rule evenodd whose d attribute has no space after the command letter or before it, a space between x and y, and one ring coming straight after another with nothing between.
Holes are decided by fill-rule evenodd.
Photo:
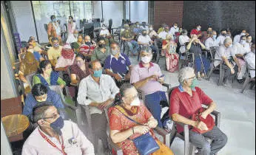
<instances>
[{"instance_id":1,"label":"blue handbag with long strap on the orange-saree woman's lap","mask_svg":"<svg viewBox=\"0 0 256 155\"><path fill-rule=\"evenodd\" d=\"M121 112L121 114L123 114L123 113ZM124 115L124 117L127 117L127 115L125 115L125 114L123 114L123 115ZM131 120L132 122L134 122L138 125L142 125L141 123L138 123L129 117L127 117L127 119ZM128 138L128 140L130 140L130 139ZM154 138L149 133L142 134L140 137L133 139L132 142L134 142L139 154L141 154L141 155L152 154L155 151L158 151L158 149L160 148L158 143L155 142Z\"/></svg>"}]
</instances>

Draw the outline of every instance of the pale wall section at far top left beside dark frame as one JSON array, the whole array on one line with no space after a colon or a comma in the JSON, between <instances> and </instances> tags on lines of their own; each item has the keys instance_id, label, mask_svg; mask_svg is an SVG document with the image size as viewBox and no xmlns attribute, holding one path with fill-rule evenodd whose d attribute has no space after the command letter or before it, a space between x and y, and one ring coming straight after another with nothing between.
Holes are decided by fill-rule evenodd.
<instances>
[{"instance_id":1,"label":"pale wall section at far top left beside dark frame","mask_svg":"<svg viewBox=\"0 0 256 155\"><path fill-rule=\"evenodd\" d=\"M11 1L11 4L21 41L28 41L31 35L36 38L36 28L30 1Z\"/></svg>"}]
</instances>

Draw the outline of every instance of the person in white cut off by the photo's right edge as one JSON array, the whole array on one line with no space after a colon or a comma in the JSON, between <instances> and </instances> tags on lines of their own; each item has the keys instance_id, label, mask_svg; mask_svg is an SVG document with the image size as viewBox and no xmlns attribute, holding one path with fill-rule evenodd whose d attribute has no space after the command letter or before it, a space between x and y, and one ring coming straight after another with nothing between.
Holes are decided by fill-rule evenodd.
<instances>
[{"instance_id":1,"label":"person in white cut off by the photo's right edge","mask_svg":"<svg viewBox=\"0 0 256 155\"><path fill-rule=\"evenodd\" d=\"M255 69L255 44L252 44L251 51L246 54L245 61L248 63L249 69ZM252 78L255 78L255 70L249 70Z\"/></svg>"}]
</instances>

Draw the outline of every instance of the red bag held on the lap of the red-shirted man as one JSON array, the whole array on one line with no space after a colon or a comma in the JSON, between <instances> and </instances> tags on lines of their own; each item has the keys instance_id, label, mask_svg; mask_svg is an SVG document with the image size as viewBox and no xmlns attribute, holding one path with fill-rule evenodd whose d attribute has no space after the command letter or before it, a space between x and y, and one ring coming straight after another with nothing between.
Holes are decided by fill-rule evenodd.
<instances>
[{"instance_id":1,"label":"red bag held on the lap of the red-shirted man","mask_svg":"<svg viewBox=\"0 0 256 155\"><path fill-rule=\"evenodd\" d=\"M195 128L192 127L192 131L194 132L198 132L199 134L204 134L208 131L211 131L212 128L215 126L215 120L213 120L212 116L210 114L208 114L208 116L206 117L206 119L203 119L203 117L201 117L201 113L203 111L205 111L206 108L199 108L198 109L198 113L196 114L192 114L192 120L195 121L202 121L203 123L206 124L208 130L200 130L199 128Z\"/></svg>"}]
</instances>

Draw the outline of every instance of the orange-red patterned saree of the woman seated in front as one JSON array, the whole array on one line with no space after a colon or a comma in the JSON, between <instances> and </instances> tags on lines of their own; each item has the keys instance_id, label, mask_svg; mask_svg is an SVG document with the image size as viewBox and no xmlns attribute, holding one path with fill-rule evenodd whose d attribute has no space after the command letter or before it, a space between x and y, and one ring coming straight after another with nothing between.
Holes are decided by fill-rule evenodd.
<instances>
[{"instance_id":1,"label":"orange-red patterned saree of the woman seated in front","mask_svg":"<svg viewBox=\"0 0 256 155\"><path fill-rule=\"evenodd\" d=\"M134 110L136 111L136 109ZM132 118L132 120L135 120L141 124L147 123L149 118L152 117L152 114L149 112L146 106L142 104L141 106L138 106L136 113L132 116L129 115L129 112L127 110L124 110L124 108L122 108L121 106L114 106L109 108L108 114L110 118L110 130L118 130L118 131L125 131L137 125L131 120L128 120L127 117L124 116L124 114ZM152 129L150 129L149 134L152 135L152 137L155 139L155 141L158 143L160 147L160 149L158 151L155 151L152 155L160 155L160 154L173 155L170 148L166 147L166 145L164 145L155 137L155 133ZM133 134L131 137L129 137L130 140L124 140L123 142L117 143L117 145L120 148L122 148L124 155L128 155L128 154L138 155L137 148L135 147L132 140L139 136L141 136L141 134ZM113 153L115 154L115 152Z\"/></svg>"}]
</instances>

